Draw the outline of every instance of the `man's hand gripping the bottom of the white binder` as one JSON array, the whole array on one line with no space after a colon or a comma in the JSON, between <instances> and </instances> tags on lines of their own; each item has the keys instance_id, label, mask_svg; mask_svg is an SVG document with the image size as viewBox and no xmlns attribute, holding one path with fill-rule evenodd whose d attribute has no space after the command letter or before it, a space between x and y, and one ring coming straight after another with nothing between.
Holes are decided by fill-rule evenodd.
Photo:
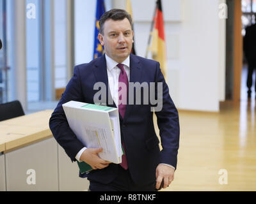
<instances>
[{"instance_id":1,"label":"man's hand gripping the bottom of the white binder","mask_svg":"<svg viewBox=\"0 0 256 204\"><path fill-rule=\"evenodd\" d=\"M108 164L111 162L105 161L104 159L100 159L98 153L102 152L102 147L100 148L87 148L81 154L80 161L84 161L90 166L92 166L93 170L106 168Z\"/></svg>"}]
</instances>

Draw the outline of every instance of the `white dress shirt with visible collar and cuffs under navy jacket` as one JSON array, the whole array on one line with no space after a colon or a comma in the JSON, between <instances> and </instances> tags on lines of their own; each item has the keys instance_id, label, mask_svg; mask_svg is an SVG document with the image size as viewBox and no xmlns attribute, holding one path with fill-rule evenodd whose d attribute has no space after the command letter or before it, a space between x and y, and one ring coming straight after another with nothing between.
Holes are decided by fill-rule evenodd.
<instances>
[{"instance_id":1,"label":"white dress shirt with visible collar and cuffs under navy jacket","mask_svg":"<svg viewBox=\"0 0 256 204\"><path fill-rule=\"evenodd\" d=\"M109 89L111 92L111 96L116 104L116 107L118 108L118 81L119 81L119 75L121 70L116 66L118 62L111 59L107 54L105 54L105 56L106 56L106 65L107 65L107 72L108 72ZM124 64L124 69L127 74L128 81L130 81L130 55L121 64ZM86 150L86 147L84 147L77 153L76 155L77 161L80 161L81 154L84 152L84 150ZM170 164L165 164L165 165L171 166L172 168L174 168Z\"/></svg>"}]
</instances>

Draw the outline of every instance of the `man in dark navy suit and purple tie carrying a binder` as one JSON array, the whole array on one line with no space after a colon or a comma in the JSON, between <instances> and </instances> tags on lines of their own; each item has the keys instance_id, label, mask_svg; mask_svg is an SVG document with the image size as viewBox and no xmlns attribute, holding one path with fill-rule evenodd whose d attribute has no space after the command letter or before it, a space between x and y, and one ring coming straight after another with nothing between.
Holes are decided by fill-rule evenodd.
<instances>
[{"instance_id":1,"label":"man in dark navy suit and purple tie carrying a binder","mask_svg":"<svg viewBox=\"0 0 256 204\"><path fill-rule=\"evenodd\" d=\"M91 191L154 191L159 189L163 181L166 188L174 179L177 168L179 149L179 115L168 86L164 80L159 62L132 55L132 19L124 10L110 10L100 18L99 41L104 46L105 54L87 64L75 67L74 76L62 94L58 106L52 113L49 125L61 147L72 161L84 161L90 164L93 171L80 177L88 177ZM101 148L84 147L68 126L62 104L68 101L95 103L97 90L93 86L97 82L106 85L106 105L117 107L120 117L121 140L125 156L122 164L113 164L100 159L97 155ZM127 91L122 95L128 103L120 103L119 83L129 82ZM140 94L133 94L130 84L147 84L154 82L155 96L161 108L152 103L152 89L141 89ZM157 85L160 84L160 88ZM125 89L124 89L125 90ZM129 90L129 91L128 91ZM139 96L148 94L148 98ZM160 94L159 94L160 93ZM131 99L131 95L134 98ZM114 103L113 103L114 102ZM132 102L132 103L131 103ZM158 106L158 105L157 105ZM163 150L159 150L153 122L152 107L155 108L159 135ZM153 110L154 110L153 108Z\"/></svg>"}]
</instances>

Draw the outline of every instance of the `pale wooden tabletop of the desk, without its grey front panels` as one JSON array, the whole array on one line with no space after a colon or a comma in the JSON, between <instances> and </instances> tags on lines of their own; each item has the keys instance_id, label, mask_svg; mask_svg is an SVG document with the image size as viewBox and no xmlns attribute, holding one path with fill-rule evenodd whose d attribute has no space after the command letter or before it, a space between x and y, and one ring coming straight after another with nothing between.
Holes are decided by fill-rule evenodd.
<instances>
[{"instance_id":1,"label":"pale wooden tabletop of the desk, without its grey front panels","mask_svg":"<svg viewBox=\"0 0 256 204\"><path fill-rule=\"evenodd\" d=\"M32 113L0 122L0 152L16 149L52 136L52 110Z\"/></svg>"}]
</instances>

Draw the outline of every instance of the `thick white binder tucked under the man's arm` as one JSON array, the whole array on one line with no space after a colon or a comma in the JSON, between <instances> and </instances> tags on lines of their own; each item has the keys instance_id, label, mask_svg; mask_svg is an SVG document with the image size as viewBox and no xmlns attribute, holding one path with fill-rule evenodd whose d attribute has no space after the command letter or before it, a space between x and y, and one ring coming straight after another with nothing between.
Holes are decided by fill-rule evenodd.
<instances>
[{"instance_id":1,"label":"thick white binder tucked under the man's arm","mask_svg":"<svg viewBox=\"0 0 256 204\"><path fill-rule=\"evenodd\" d=\"M102 147L100 158L122 163L118 108L69 101L62 105L68 124L87 148Z\"/></svg>"}]
</instances>

